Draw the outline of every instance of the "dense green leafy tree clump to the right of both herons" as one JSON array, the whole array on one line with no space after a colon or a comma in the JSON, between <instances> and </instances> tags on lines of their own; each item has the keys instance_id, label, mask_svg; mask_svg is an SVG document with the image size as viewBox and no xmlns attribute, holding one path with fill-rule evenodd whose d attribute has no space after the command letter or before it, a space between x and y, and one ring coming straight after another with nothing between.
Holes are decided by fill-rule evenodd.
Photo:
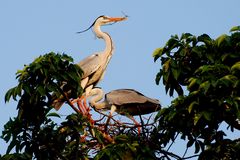
<instances>
[{"instance_id":1,"label":"dense green leafy tree clump to the right of both herons","mask_svg":"<svg viewBox=\"0 0 240 160\"><path fill-rule=\"evenodd\" d=\"M206 34L198 37L190 33L181 37L175 35L153 55L162 65L156 83L162 79L166 93L173 96L176 91L178 94L156 117L159 138L165 145L181 133L182 139L187 138L187 147L194 145L195 153L205 155L224 140L220 124L227 123L231 131L240 130L239 27L232 28L231 35L224 34L215 40ZM240 151L239 147L233 147L239 146L239 140L234 144L233 141L224 142L229 143L234 153ZM221 151L230 153L229 150ZM218 152L211 152L212 156L217 156Z\"/></svg>"}]
</instances>

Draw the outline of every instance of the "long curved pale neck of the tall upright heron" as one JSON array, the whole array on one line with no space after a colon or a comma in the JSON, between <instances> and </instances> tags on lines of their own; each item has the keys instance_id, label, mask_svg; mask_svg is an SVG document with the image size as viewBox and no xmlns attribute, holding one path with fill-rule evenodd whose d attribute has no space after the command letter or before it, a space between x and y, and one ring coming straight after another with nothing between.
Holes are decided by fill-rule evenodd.
<instances>
[{"instance_id":1,"label":"long curved pale neck of the tall upright heron","mask_svg":"<svg viewBox=\"0 0 240 160\"><path fill-rule=\"evenodd\" d=\"M98 38L101 38L105 41L105 49L103 51L107 56L111 56L113 53L113 42L110 35L106 32L102 32L100 26L94 26L94 32Z\"/></svg>"}]
</instances>

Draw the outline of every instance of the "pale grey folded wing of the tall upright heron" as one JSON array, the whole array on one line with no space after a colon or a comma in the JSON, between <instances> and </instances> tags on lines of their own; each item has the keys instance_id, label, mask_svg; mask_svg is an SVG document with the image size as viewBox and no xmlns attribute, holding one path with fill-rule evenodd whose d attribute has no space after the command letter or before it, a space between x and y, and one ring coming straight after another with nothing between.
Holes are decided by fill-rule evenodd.
<instances>
[{"instance_id":1,"label":"pale grey folded wing of the tall upright heron","mask_svg":"<svg viewBox=\"0 0 240 160\"><path fill-rule=\"evenodd\" d=\"M86 78L96 72L100 68L101 57L99 54L93 54L86 57L78 63L83 70L82 78Z\"/></svg>"}]
</instances>

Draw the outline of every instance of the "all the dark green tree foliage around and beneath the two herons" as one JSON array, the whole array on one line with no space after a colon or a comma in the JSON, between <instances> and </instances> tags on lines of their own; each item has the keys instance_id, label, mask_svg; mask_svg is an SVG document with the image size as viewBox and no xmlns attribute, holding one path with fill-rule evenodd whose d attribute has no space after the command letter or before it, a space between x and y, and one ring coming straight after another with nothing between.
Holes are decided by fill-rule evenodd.
<instances>
[{"instance_id":1,"label":"all the dark green tree foliage around and beneath the two herons","mask_svg":"<svg viewBox=\"0 0 240 160\"><path fill-rule=\"evenodd\" d=\"M18 115L4 126L9 143L4 160L12 159L238 159L240 139L225 138L219 126L240 130L240 27L216 39L207 34L172 36L154 51L161 68L156 83L163 83L172 103L133 126L98 111L99 120L81 112L72 100L83 93L82 70L66 54L48 53L17 72L18 85L5 101L18 101ZM62 74L64 73L64 74ZM67 94L66 94L67 93ZM52 102L64 97L74 109L60 124L51 117ZM78 110L79 109L79 110ZM138 127L141 132L138 133ZM178 136L186 141L190 157L169 151Z\"/></svg>"}]
</instances>

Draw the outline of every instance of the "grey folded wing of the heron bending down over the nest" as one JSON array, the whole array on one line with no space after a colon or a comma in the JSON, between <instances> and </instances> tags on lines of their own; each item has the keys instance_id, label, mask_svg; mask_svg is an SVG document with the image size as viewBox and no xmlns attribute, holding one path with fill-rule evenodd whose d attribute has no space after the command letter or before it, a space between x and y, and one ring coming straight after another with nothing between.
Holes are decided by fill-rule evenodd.
<instances>
[{"instance_id":1,"label":"grey folded wing of the heron bending down over the nest","mask_svg":"<svg viewBox=\"0 0 240 160\"><path fill-rule=\"evenodd\" d=\"M144 96L142 93L134 89L117 89L106 94L106 99L110 104L125 105L131 103L151 102L159 104L159 101Z\"/></svg>"}]
</instances>

